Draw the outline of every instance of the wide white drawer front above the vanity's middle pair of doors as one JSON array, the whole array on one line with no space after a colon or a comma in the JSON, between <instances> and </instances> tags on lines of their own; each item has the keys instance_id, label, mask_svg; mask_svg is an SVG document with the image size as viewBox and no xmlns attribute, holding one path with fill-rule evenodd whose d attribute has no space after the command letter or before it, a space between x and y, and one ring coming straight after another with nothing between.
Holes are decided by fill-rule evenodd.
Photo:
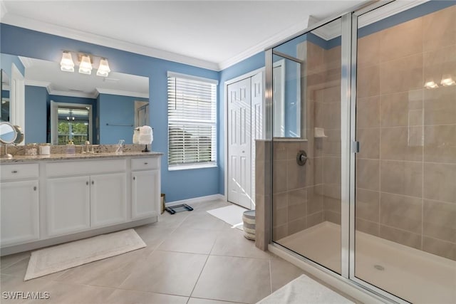
<instances>
[{"instance_id":1,"label":"wide white drawer front above the vanity's middle pair of doors","mask_svg":"<svg viewBox=\"0 0 456 304\"><path fill-rule=\"evenodd\" d=\"M90 175L108 172L124 172L126 167L125 159L49 162L46 164L46 174L48 177L81 174Z\"/></svg>"}]
</instances>

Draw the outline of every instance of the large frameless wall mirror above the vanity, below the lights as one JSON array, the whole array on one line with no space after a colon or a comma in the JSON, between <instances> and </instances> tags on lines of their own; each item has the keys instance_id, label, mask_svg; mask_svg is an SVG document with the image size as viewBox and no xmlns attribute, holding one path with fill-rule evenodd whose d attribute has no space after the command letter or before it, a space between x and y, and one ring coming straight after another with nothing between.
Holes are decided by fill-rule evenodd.
<instances>
[{"instance_id":1,"label":"large frameless wall mirror above the vanity, below the lights","mask_svg":"<svg viewBox=\"0 0 456 304\"><path fill-rule=\"evenodd\" d=\"M92 144L131 144L133 129L145 122L139 117L149 115L147 77L113 71L100 77L96 70L85 75L76 67L73 73L64 72L59 62L22 56L19 60L25 70L26 143L62 145L73 137L75 144L76 138ZM81 135L84 128L86 135Z\"/></svg>"}]
</instances>

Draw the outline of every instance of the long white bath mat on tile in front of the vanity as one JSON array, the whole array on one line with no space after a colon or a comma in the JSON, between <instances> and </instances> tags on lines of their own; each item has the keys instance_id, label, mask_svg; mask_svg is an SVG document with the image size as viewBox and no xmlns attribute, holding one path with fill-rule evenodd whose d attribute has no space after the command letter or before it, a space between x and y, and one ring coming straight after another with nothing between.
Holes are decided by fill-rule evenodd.
<instances>
[{"instance_id":1,"label":"long white bath mat on tile in front of the vanity","mask_svg":"<svg viewBox=\"0 0 456 304\"><path fill-rule=\"evenodd\" d=\"M33 251L24 281L147 246L128 229Z\"/></svg>"}]
</instances>

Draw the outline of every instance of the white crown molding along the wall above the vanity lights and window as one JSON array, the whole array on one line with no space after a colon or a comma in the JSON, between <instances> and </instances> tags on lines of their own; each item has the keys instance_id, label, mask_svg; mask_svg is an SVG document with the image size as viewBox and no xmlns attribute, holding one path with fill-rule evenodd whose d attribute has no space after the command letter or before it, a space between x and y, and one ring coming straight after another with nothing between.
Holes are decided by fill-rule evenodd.
<instances>
[{"instance_id":1,"label":"white crown molding along the wall above the vanity lights and window","mask_svg":"<svg viewBox=\"0 0 456 304\"><path fill-rule=\"evenodd\" d=\"M157 48L150 48L147 46L141 46L139 44L130 43L126 41L120 41L105 36L95 35L93 33L86 33L73 28L67 28L65 26L57 26L56 24L46 23L43 21L37 21L33 19L24 18L23 16L17 16L14 14L5 14L1 20L2 23L9 24L11 26L19 26L21 28L28 28L33 31L40 31L42 33L49 33L51 35L62 36L65 38L71 38L78 41L84 41L88 43L98 44L100 46L107 46L110 48L116 48L122 51L128 51L132 53L138 53L140 55L165 59L167 61L174 61L177 63L184 63L188 65L194 65L199 68L207 68L208 70L218 70L219 66L217 63L210 61L204 61L198 58L192 58L189 56L180 55L168 51L162 51Z\"/></svg>"}]
</instances>

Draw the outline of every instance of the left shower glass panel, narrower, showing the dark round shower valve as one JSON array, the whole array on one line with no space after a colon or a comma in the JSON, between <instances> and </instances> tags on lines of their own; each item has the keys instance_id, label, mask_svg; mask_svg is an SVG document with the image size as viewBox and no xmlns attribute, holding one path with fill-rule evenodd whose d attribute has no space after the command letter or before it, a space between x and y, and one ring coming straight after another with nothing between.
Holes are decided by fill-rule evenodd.
<instances>
[{"instance_id":1,"label":"left shower glass panel, narrower, showing the dark round shower valve","mask_svg":"<svg viewBox=\"0 0 456 304\"><path fill-rule=\"evenodd\" d=\"M273 53L273 241L341 273L341 19Z\"/></svg>"}]
</instances>

